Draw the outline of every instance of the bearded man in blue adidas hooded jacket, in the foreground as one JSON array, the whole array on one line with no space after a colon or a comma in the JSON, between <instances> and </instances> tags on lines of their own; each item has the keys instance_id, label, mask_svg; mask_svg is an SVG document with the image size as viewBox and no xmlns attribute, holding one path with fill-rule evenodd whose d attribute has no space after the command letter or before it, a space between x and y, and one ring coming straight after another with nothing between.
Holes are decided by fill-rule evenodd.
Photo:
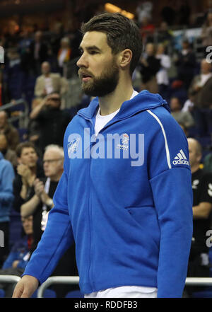
<instances>
[{"instance_id":1,"label":"bearded man in blue adidas hooded jacket, in the foreground","mask_svg":"<svg viewBox=\"0 0 212 312\"><path fill-rule=\"evenodd\" d=\"M95 98L66 129L54 207L13 297L33 294L73 241L86 298L180 297L192 241L187 138L160 95L134 91L136 24L102 13L81 30L79 76Z\"/></svg>"}]
</instances>

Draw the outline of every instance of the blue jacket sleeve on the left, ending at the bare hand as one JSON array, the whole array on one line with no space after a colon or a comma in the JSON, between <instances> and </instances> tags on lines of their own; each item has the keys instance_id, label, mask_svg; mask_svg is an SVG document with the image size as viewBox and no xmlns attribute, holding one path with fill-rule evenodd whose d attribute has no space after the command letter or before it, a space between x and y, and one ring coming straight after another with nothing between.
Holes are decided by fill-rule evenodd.
<instances>
[{"instance_id":1,"label":"blue jacket sleeve on the left, ending at the bare hand","mask_svg":"<svg viewBox=\"0 0 212 312\"><path fill-rule=\"evenodd\" d=\"M67 178L63 173L53 197L47 227L23 275L36 277L40 284L52 274L59 259L73 243L73 232L67 204Z\"/></svg>"}]
</instances>

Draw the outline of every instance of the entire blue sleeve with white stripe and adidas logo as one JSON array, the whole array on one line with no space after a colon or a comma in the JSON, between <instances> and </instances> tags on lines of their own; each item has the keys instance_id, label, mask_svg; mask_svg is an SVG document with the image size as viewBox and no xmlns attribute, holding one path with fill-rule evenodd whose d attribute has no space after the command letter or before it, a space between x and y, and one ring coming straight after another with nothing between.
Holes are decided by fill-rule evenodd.
<instances>
[{"instance_id":1,"label":"entire blue sleeve with white stripe and adidas logo","mask_svg":"<svg viewBox=\"0 0 212 312\"><path fill-rule=\"evenodd\" d=\"M153 116L149 180L160 226L158 297L174 298L182 296L192 244L192 173L181 127L160 110L155 114L158 120Z\"/></svg>"}]
</instances>

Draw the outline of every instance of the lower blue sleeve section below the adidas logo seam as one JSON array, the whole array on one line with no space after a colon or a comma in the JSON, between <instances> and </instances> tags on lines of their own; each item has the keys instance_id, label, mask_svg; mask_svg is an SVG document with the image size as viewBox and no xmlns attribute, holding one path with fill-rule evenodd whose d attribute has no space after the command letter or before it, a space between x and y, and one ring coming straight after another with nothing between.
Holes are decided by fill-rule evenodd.
<instances>
[{"instance_id":1,"label":"lower blue sleeve section below the adidas logo seam","mask_svg":"<svg viewBox=\"0 0 212 312\"><path fill-rule=\"evenodd\" d=\"M190 172L172 168L150 183L160 224L158 297L181 297L193 231Z\"/></svg>"}]
</instances>

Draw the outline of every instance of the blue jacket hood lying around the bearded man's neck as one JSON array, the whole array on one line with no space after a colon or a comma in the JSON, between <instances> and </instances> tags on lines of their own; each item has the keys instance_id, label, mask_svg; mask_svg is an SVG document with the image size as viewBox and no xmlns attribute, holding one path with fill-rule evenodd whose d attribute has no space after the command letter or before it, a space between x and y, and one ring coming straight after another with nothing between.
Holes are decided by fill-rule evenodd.
<instances>
[{"instance_id":1,"label":"blue jacket hood lying around the bearded man's neck","mask_svg":"<svg viewBox=\"0 0 212 312\"><path fill-rule=\"evenodd\" d=\"M98 97L94 98L87 108L83 108L78 111L78 115L83 115L88 119L92 119L95 116L95 112L99 106ZM166 100L164 100L158 93L150 93L147 90L143 90L138 93L131 100L126 100L122 103L119 112L116 115L117 119L124 119L130 117L131 115L141 112L142 110L150 110L157 108L158 106L164 106L168 112L170 108L167 105Z\"/></svg>"}]
</instances>

